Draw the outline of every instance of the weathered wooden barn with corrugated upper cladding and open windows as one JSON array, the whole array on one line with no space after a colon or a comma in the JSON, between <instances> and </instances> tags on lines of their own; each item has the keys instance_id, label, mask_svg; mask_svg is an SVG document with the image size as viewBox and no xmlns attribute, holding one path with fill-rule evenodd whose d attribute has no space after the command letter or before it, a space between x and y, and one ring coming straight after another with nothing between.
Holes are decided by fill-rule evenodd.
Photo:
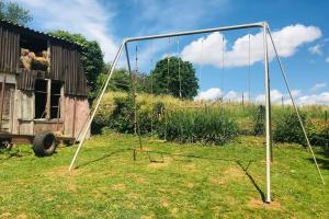
<instances>
[{"instance_id":1,"label":"weathered wooden barn with corrugated upper cladding and open windows","mask_svg":"<svg viewBox=\"0 0 329 219\"><path fill-rule=\"evenodd\" d=\"M0 131L77 138L89 117L80 46L0 20Z\"/></svg>"}]
</instances>

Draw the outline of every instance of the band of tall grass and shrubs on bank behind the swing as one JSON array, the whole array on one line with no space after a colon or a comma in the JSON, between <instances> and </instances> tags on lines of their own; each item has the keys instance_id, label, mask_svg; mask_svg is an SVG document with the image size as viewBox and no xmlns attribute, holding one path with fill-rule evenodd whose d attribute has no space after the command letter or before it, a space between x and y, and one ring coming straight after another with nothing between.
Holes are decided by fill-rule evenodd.
<instances>
[{"instance_id":1,"label":"band of tall grass and shrubs on bank behind the swing","mask_svg":"<svg viewBox=\"0 0 329 219\"><path fill-rule=\"evenodd\" d=\"M182 101L170 95L151 94L138 94L136 103L143 135L158 135L181 142L223 145L234 138L236 131L240 135L264 132L264 107L253 103ZM311 142L328 145L329 107L303 106L299 111L305 116ZM290 105L272 106L274 140L304 143L294 114ZM93 123L97 131L104 127L134 132L134 106L126 93L105 94Z\"/></svg>"}]
</instances>

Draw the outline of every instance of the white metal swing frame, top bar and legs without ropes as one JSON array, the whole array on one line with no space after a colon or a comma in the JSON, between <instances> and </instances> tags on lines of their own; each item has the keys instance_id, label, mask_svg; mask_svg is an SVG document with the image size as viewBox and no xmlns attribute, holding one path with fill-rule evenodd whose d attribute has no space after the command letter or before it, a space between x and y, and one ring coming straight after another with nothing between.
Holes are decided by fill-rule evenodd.
<instances>
[{"instance_id":1,"label":"white metal swing frame, top bar and legs without ropes","mask_svg":"<svg viewBox=\"0 0 329 219\"><path fill-rule=\"evenodd\" d=\"M139 42L139 41L147 41L147 39L157 39L157 38L167 38L167 37L174 37L174 36L186 36L186 35L194 35L194 34L206 34L206 33L214 33L214 32L226 32L226 31L234 31L234 30L243 30L243 28L261 28L262 32L263 32L263 49L264 49L264 74L265 74L265 81L264 81L264 84L265 84L265 139L266 139L266 155L265 155L265 161L266 161L266 164L265 164L265 182L266 182L266 196L265 196L265 201L266 203L271 203L271 157L272 157L272 128L271 128L271 93L270 93L270 71L269 71L269 55L268 55L268 39L270 37L270 41L272 43L272 46L274 48L274 51L275 51L275 56L276 56L276 59L277 59L277 62L279 62L279 66L280 66L280 70L282 72L282 76L283 76L283 79L284 79L284 83L286 85L286 89L288 91L288 94L290 94L290 97L292 100L292 103L293 103L293 107L296 112L296 115L298 117L298 120L299 120L299 124L302 126L302 129L303 129L303 132L304 132L304 136L305 136L305 139L306 139L306 142L307 142L307 146L309 148L309 151L311 152L311 155L313 155L313 159L314 159L314 162L316 164L316 168L317 168L317 171L319 173L319 176L321 178L321 182L322 184L325 184L325 181L324 181L324 177L321 175L321 172L320 172L320 169L319 169L319 165L317 163L317 160L316 160L316 157L314 154L314 151L313 151L313 148L309 143L309 139L307 137L307 134L306 134L306 130L305 130L305 127L304 127L304 124L300 119L300 116L299 116L299 112L298 112L298 108L295 104L295 101L294 101L294 97L292 95L292 91L291 91L291 88L290 88L290 84L287 82L287 77L286 77L286 72L283 68L283 65L282 65L282 61L281 61L281 58L277 54L277 49L276 49L276 46L274 44L274 41L273 41L273 37L272 37L272 34L271 34L271 31L270 31L270 27L269 27L269 24L266 22L259 22L259 23L251 23L251 24L242 24L242 25L234 25L234 26L224 26L224 27L216 27L216 28L205 28L205 30L196 30L196 31L188 31L188 32L177 32L177 33L169 33L169 34L160 34L160 35L149 35L149 36L140 36L140 37L132 37L132 38L124 38L116 55L115 55L115 58L114 58L114 61L113 61L113 65L111 67L111 69L109 70L107 72L107 78L103 84L103 88L101 90L101 93L95 102L95 106L94 106L94 110L90 116L90 119L87 124L87 128L84 129L83 134L82 134L82 139L75 152L75 155L71 160L71 163L70 163L70 166L69 166L69 171L72 170L72 168L75 166L75 162L78 158L78 154L81 150L81 147L84 142L84 139L86 139L86 136L88 134L88 130L90 129L90 126L91 126L91 123L95 116L95 113L98 112L98 108L100 106L100 103L102 101L102 97L106 91L106 88L110 83L110 80L112 78L112 74L114 72L114 69L117 65L117 61L120 59L120 56L121 54L123 53L123 50L125 50L125 54L126 54L126 59L127 59L127 68L128 68L128 71L129 73L132 74L132 67L131 67L131 59L129 59L129 53L128 53L128 44L132 43L132 42Z\"/></svg>"}]
</instances>

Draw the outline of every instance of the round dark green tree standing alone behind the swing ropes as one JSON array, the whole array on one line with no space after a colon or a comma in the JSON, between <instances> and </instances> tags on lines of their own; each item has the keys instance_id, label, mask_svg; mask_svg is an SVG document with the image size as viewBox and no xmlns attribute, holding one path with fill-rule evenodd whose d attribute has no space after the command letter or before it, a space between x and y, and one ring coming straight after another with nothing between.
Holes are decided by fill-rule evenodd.
<instances>
[{"instance_id":1,"label":"round dark green tree standing alone behind the swing ropes","mask_svg":"<svg viewBox=\"0 0 329 219\"><path fill-rule=\"evenodd\" d=\"M181 91L183 99L192 99L197 94L195 69L191 62L181 58L167 57L159 60L150 77L155 94L171 94L179 97Z\"/></svg>"}]
</instances>

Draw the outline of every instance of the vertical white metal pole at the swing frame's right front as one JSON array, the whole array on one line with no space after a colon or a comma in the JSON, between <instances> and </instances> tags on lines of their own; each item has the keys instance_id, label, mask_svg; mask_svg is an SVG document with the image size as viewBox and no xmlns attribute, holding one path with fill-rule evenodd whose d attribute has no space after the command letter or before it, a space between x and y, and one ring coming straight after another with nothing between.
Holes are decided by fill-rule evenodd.
<instances>
[{"instance_id":1,"label":"vertical white metal pole at the swing frame's right front","mask_svg":"<svg viewBox=\"0 0 329 219\"><path fill-rule=\"evenodd\" d=\"M268 32L266 23L263 23L263 43L264 43L264 70L265 70L265 106L266 106L266 203L271 203L271 94L270 94L270 72L268 55Z\"/></svg>"}]
</instances>

